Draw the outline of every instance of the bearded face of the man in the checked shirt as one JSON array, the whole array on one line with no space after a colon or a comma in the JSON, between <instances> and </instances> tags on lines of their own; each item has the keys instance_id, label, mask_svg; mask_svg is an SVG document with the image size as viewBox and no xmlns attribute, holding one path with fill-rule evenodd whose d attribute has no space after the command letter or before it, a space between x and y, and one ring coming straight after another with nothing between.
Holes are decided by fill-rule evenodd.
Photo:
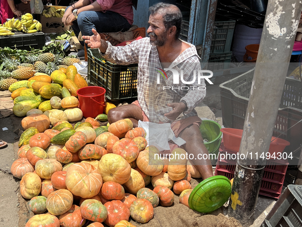
<instances>
[{"instance_id":1,"label":"bearded face of the man in the checked shirt","mask_svg":"<svg viewBox=\"0 0 302 227\"><path fill-rule=\"evenodd\" d=\"M150 26L147 33L150 36L151 45L156 47L164 46L167 42L167 31L162 15L159 13L150 15L148 24Z\"/></svg>"}]
</instances>

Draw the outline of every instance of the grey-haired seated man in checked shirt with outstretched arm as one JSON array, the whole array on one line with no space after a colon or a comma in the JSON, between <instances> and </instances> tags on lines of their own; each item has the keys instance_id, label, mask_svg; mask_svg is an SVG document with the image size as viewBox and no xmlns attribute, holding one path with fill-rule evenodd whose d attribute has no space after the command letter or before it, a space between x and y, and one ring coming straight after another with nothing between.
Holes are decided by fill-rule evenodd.
<instances>
[{"instance_id":1,"label":"grey-haired seated man in checked shirt with outstretched arm","mask_svg":"<svg viewBox=\"0 0 302 227\"><path fill-rule=\"evenodd\" d=\"M210 159L198 158L198 154L208 154L208 151L199 131L201 119L194 110L205 96L205 83L201 79L198 84L196 79L193 84L186 85L179 79L179 84L175 85L171 73L171 69L182 70L183 80L193 81L192 78L196 77L194 71L200 69L196 48L178 38L182 16L176 6L158 3L150 7L150 13L150 27L147 30L150 38L136 40L125 47L112 47L110 43L101 40L96 30L92 30L92 36L83 36L88 47L99 48L100 52L104 53L103 56L113 63L138 63L138 100L110 110L109 123L125 118L131 119L134 127L137 127L138 120L170 122L175 136L186 141L183 149L194 155L191 163L202 178L206 179L213 176L212 165ZM164 68L169 69L165 71L167 75L162 74L165 76L163 79L157 71ZM161 80L160 83L158 80ZM165 89L160 85L164 85ZM195 89L186 89L185 86L195 86ZM169 87L185 89L168 89Z\"/></svg>"}]
</instances>

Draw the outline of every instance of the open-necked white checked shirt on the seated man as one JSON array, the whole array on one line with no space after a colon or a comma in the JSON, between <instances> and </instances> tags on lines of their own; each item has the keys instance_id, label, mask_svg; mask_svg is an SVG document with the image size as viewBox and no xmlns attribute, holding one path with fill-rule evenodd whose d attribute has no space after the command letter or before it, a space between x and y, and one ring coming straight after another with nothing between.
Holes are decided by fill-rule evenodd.
<instances>
[{"instance_id":1,"label":"open-necked white checked shirt on the seated man","mask_svg":"<svg viewBox=\"0 0 302 227\"><path fill-rule=\"evenodd\" d=\"M194 108L205 97L205 82L201 79L200 84L197 84L197 71L200 70L200 61L194 45L184 50L169 66L179 72L183 70L183 79L185 81L193 80L193 70L196 70L196 80L191 85L186 85L179 78L179 85L173 84L173 74L167 70L167 78L160 75L160 84L157 84L157 68L162 69L157 48L150 44L149 37L135 40L125 47L113 47L109 42L108 48L103 55L112 63L120 65L129 65L138 63L137 71L137 99L138 102L148 116L150 122L158 123L159 121L170 122L165 113L172 111L167 104L172 102L187 102L188 110L181 113L176 120L181 120L190 116L196 116ZM176 89L163 89L164 86L173 87ZM190 86L195 86L194 90ZM203 90L198 90L197 87L203 86ZM178 87L180 87L178 89ZM183 90L181 90L181 87Z\"/></svg>"}]
</instances>

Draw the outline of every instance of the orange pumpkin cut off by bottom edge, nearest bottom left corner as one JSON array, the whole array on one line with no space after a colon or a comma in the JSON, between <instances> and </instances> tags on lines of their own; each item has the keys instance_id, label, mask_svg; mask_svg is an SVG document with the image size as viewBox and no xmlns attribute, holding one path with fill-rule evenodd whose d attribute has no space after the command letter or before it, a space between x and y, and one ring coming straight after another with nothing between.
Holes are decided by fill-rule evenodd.
<instances>
[{"instance_id":1,"label":"orange pumpkin cut off by bottom edge, nearest bottom left corner","mask_svg":"<svg viewBox=\"0 0 302 227\"><path fill-rule=\"evenodd\" d=\"M49 76L50 77L50 76ZM51 214L37 214L31 217L25 227L59 227L59 219Z\"/></svg>"}]
</instances>

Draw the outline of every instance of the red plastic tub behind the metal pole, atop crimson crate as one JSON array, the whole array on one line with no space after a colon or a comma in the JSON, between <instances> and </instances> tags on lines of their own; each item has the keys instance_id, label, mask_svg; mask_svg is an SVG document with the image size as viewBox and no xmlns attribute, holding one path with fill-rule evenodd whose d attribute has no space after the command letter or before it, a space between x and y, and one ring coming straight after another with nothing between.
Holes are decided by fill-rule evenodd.
<instances>
[{"instance_id":1,"label":"red plastic tub behind the metal pole, atop crimson crate","mask_svg":"<svg viewBox=\"0 0 302 227\"><path fill-rule=\"evenodd\" d=\"M231 129L224 128L220 130L223 134L224 147L227 150L239 152L241 137L243 130L242 129ZM273 136L271 138L270 146L268 153L271 156L274 155L277 158L277 153L282 153L286 146L289 146L290 142L281 138L276 138Z\"/></svg>"}]
</instances>

